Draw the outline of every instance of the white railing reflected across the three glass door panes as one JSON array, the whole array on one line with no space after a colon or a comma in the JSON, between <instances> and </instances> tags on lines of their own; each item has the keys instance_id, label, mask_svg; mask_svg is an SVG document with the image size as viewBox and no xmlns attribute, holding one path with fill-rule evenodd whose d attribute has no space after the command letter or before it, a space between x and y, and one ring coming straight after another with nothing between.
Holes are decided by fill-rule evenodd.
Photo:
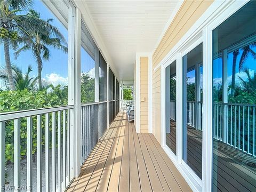
<instances>
[{"instance_id":1,"label":"white railing reflected across the three glass door panes","mask_svg":"<svg viewBox=\"0 0 256 192\"><path fill-rule=\"evenodd\" d=\"M256 156L255 110L256 105L214 103L213 138ZM175 101L170 102L170 118L175 119ZM202 131L202 102L187 102L187 125Z\"/></svg>"}]
</instances>

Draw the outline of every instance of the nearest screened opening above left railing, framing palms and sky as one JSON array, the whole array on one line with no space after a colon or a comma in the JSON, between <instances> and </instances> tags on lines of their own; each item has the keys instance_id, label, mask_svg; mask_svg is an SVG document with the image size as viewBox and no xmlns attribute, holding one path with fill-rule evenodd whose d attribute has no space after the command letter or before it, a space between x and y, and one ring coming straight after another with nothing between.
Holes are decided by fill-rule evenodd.
<instances>
[{"instance_id":1,"label":"nearest screened opening above left railing, framing palms and sky","mask_svg":"<svg viewBox=\"0 0 256 192\"><path fill-rule=\"evenodd\" d=\"M20 27L1 24L0 51L4 57L0 64L0 98L4 102L0 113L67 105L68 5L65 2L55 4L62 7L61 15L66 14L66 17L59 17L61 21L42 1L33 1L27 9L13 13L25 15L21 20L17 20L18 17L11 20ZM11 6L9 9L14 10ZM14 49L15 43L19 44Z\"/></svg>"}]
</instances>

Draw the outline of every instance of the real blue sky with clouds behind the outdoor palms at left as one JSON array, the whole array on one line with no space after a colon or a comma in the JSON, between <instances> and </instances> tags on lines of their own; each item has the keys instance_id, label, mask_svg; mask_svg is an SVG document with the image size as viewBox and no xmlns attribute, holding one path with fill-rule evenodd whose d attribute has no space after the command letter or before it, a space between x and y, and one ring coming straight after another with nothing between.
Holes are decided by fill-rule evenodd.
<instances>
[{"instance_id":1,"label":"real blue sky with clouds behind the outdoor palms at left","mask_svg":"<svg viewBox=\"0 0 256 192\"><path fill-rule=\"evenodd\" d=\"M57 27L63 36L65 36L66 41L68 42L68 30L62 25L62 23L55 17L55 15L47 9L41 1L34 1L33 9L40 13L42 19L53 18L52 25ZM20 14L26 14L26 12L20 12ZM0 47L0 65L1 67L5 66L4 59L4 48L1 44ZM13 57L13 50L10 50L11 62L15 65L18 65L23 73L25 73L28 65L31 65L33 71L30 73L31 76L37 76L37 64L36 60L31 54L31 51L22 52L17 60ZM54 84L66 84L68 77L68 54L63 53L60 50L55 50L50 48L50 60L43 60L43 70L42 78L47 81L54 81ZM81 47L81 73L82 71L86 73L87 71L94 68L94 60L90 57L89 54Z\"/></svg>"}]
</instances>

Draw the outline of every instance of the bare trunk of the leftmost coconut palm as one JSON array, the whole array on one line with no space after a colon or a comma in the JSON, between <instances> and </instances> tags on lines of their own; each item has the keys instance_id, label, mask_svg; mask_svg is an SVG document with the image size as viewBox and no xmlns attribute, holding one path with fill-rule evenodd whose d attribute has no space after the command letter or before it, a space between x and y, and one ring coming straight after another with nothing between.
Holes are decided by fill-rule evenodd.
<instances>
[{"instance_id":1,"label":"bare trunk of the leftmost coconut palm","mask_svg":"<svg viewBox=\"0 0 256 192\"><path fill-rule=\"evenodd\" d=\"M10 90L16 90L14 84L14 78L12 74L12 66L11 66L11 59L10 59L10 41L8 38L4 39L4 57L5 57L5 66L6 66L6 73L9 80Z\"/></svg>"}]
</instances>

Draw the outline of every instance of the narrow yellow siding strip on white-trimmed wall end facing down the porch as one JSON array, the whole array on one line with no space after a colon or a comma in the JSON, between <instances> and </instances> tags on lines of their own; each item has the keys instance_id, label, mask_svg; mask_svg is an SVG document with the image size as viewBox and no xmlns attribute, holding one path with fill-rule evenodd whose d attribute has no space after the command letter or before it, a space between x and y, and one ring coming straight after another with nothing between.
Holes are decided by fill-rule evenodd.
<instances>
[{"instance_id":1,"label":"narrow yellow siding strip on white-trimmed wall end facing down the porch","mask_svg":"<svg viewBox=\"0 0 256 192\"><path fill-rule=\"evenodd\" d=\"M140 58L140 132L148 132L148 57Z\"/></svg>"}]
</instances>

